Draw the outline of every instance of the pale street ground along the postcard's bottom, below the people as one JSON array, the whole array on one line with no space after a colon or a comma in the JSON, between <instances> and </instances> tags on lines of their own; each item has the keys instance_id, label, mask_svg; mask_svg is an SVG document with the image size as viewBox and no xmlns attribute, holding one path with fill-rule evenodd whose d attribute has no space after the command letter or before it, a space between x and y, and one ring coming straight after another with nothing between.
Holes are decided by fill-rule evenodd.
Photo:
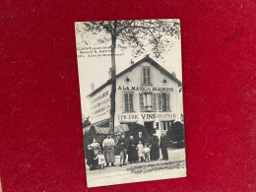
<instances>
[{"instance_id":1,"label":"pale street ground along the postcard's bottom, below the people","mask_svg":"<svg viewBox=\"0 0 256 192\"><path fill-rule=\"evenodd\" d=\"M148 165L157 165L164 162L175 162L177 160L185 160L185 150L184 149L175 149L168 150L169 160L156 160L150 162L137 162L137 163L127 163L125 166L119 166L120 157L115 157L115 165L105 167L104 169L89 170L87 166L87 181L89 187L104 186L104 185L113 185L121 184L128 182L140 182L148 180L159 180L167 179L174 177L182 177L186 175L186 168L184 166L173 169L161 169L154 170L146 173L133 173L128 170L134 166L148 166ZM161 157L160 157L161 159ZM183 162L185 164L185 162Z\"/></svg>"}]
</instances>

